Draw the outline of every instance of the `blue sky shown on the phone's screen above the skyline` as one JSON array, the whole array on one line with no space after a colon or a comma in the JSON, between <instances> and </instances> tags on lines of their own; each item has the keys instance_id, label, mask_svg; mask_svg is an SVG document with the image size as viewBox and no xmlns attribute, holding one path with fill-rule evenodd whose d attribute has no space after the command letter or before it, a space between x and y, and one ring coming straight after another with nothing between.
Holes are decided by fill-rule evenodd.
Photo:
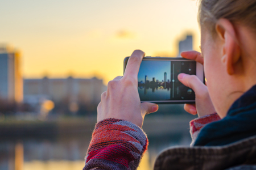
<instances>
[{"instance_id":1,"label":"blue sky shown on the phone's screen above the skyline","mask_svg":"<svg viewBox=\"0 0 256 170\"><path fill-rule=\"evenodd\" d=\"M138 82L145 82L145 75L147 80L152 81L152 78L162 82L164 80L164 73L167 74L167 79L171 79L171 61L142 61L139 68Z\"/></svg>"}]
</instances>

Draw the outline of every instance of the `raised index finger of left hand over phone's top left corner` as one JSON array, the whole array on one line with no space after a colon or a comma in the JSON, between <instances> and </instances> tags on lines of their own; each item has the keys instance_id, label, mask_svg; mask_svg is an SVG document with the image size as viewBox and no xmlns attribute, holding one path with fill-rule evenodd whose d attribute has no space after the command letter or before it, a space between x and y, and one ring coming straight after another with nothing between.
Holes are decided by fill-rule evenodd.
<instances>
[{"instance_id":1,"label":"raised index finger of left hand over phone's top left corner","mask_svg":"<svg viewBox=\"0 0 256 170\"><path fill-rule=\"evenodd\" d=\"M142 50L135 50L131 57L128 59L125 74L123 75L124 78L131 77L135 80L138 79L139 73L139 66L141 66L142 58L145 56L145 53Z\"/></svg>"}]
</instances>

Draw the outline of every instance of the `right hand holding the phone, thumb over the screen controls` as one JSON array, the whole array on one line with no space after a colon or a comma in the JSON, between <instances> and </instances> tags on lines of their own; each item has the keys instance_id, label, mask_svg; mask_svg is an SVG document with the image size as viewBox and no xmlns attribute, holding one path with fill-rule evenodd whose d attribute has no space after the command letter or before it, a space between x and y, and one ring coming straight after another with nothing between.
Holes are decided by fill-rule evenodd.
<instances>
[{"instance_id":1,"label":"right hand holding the phone, thumb over the screen controls","mask_svg":"<svg viewBox=\"0 0 256 170\"><path fill-rule=\"evenodd\" d=\"M202 65L204 64L204 58L201 56L201 53L196 51L183 52L181 57L195 60ZM178 79L185 86L192 88L196 94L196 104L185 104L185 111L191 114L198 114L199 117L216 112L212 100L210 100L207 86L196 75L181 73L178 75Z\"/></svg>"}]
</instances>

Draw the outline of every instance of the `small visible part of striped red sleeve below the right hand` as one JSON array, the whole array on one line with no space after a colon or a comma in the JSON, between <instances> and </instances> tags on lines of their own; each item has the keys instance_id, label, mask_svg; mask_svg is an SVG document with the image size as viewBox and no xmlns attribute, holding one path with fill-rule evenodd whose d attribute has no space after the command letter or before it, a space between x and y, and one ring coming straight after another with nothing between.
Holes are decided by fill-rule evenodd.
<instances>
[{"instance_id":1,"label":"small visible part of striped red sleeve below the right hand","mask_svg":"<svg viewBox=\"0 0 256 170\"><path fill-rule=\"evenodd\" d=\"M197 135L199 134L200 130L204 128L205 125L209 124L210 122L221 120L220 116L217 113L208 114L206 116L202 116L192 120L190 125L190 134L192 138L191 146L194 145Z\"/></svg>"}]
</instances>

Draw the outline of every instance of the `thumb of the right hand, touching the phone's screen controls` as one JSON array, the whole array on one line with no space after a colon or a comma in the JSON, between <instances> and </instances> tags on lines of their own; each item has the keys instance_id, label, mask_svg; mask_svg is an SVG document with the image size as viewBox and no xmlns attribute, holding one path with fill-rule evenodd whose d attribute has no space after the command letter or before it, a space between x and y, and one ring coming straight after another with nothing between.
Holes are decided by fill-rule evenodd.
<instances>
[{"instance_id":1,"label":"thumb of the right hand, touching the phone's screen controls","mask_svg":"<svg viewBox=\"0 0 256 170\"><path fill-rule=\"evenodd\" d=\"M202 90L207 88L196 75L180 73L178 79L184 86L192 88L192 90L195 91L195 94L199 94Z\"/></svg>"}]
</instances>

